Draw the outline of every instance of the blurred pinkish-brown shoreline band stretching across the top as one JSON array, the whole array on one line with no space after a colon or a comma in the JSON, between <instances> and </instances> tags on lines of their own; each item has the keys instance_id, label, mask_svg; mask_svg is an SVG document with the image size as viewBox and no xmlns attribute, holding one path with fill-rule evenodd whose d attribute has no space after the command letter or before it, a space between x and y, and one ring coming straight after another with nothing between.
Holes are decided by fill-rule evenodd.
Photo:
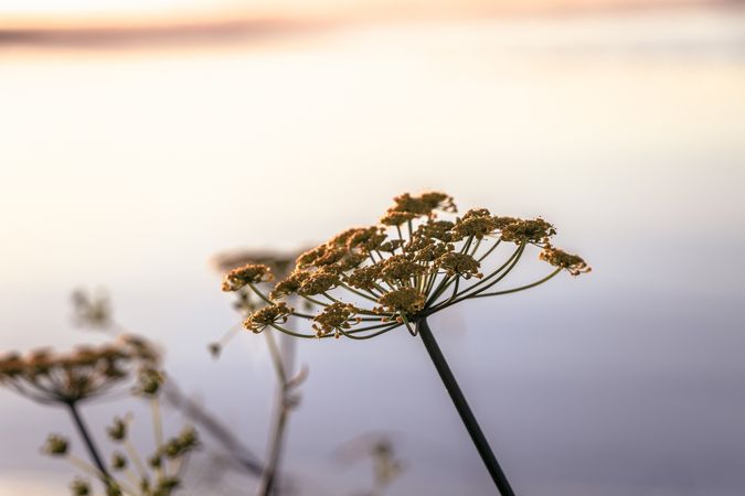
<instances>
[{"instance_id":1,"label":"blurred pinkish-brown shoreline band stretching across the top","mask_svg":"<svg viewBox=\"0 0 745 496\"><path fill-rule=\"evenodd\" d=\"M374 24L395 21L468 21L488 19L525 19L525 18L574 18L598 14L628 14L641 12L678 12L681 10L722 11L745 10L745 1L741 0L680 0L653 1L641 0L626 2L611 1L589 3L586 1L570 2L562 6L523 6L499 8L465 8L457 12L427 12L403 10L380 14L376 12L359 12L345 17L278 15L274 18L251 18L224 14L224 19L204 21L162 20L156 22L132 21L131 24L117 24L92 21L55 22L53 25L0 26L0 48L14 46L46 46L60 48L125 48L152 45L180 44L220 44L265 39L272 36L292 35L307 32L324 32L351 25Z\"/></svg>"}]
</instances>

